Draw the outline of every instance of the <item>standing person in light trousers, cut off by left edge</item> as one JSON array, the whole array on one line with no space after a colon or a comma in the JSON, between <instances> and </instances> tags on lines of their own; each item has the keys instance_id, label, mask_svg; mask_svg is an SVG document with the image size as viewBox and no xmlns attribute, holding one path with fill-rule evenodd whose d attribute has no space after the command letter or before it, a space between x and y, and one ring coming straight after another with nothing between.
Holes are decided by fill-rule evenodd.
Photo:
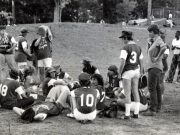
<instances>
[{"instance_id":1,"label":"standing person in light trousers, cut off by left edge","mask_svg":"<svg viewBox=\"0 0 180 135\"><path fill-rule=\"evenodd\" d=\"M14 60L14 48L16 47L16 40L10 36L6 31L6 26L0 25L0 81L6 78L5 65L17 72L16 62Z\"/></svg>"}]
</instances>

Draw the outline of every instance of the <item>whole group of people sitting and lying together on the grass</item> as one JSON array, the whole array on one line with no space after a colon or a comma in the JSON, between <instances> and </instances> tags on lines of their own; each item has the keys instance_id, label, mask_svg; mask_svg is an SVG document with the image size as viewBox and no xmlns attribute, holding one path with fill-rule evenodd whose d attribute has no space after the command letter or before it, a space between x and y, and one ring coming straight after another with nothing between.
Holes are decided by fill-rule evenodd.
<instances>
[{"instance_id":1,"label":"whole group of people sitting and lying together on the grass","mask_svg":"<svg viewBox=\"0 0 180 135\"><path fill-rule=\"evenodd\" d=\"M68 117L82 123L94 120L97 115L107 116L107 110L112 111L108 115L113 117L111 113L115 110L112 110L111 103L123 108L126 98L122 82L118 79L118 68L109 66L104 82L91 60L84 59L82 64L84 67L78 81L73 81L60 66L48 68L41 87L36 81L37 72L33 66L24 69L23 82L19 81L18 73L10 70L10 77L0 85L1 107L13 110L29 122L62 114L64 109L69 110ZM142 89L139 94L140 111L145 111L148 105ZM133 104L132 97L131 111L134 111Z\"/></svg>"}]
</instances>

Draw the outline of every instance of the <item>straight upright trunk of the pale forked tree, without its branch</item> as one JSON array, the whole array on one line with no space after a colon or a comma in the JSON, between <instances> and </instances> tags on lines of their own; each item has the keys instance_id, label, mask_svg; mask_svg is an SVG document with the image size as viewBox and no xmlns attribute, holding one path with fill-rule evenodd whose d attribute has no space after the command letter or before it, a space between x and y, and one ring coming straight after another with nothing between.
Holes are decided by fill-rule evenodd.
<instances>
[{"instance_id":1,"label":"straight upright trunk of the pale forked tree, without its branch","mask_svg":"<svg viewBox=\"0 0 180 135\"><path fill-rule=\"evenodd\" d=\"M54 22L59 22L60 20L60 0L54 0L55 7L54 7Z\"/></svg>"}]
</instances>

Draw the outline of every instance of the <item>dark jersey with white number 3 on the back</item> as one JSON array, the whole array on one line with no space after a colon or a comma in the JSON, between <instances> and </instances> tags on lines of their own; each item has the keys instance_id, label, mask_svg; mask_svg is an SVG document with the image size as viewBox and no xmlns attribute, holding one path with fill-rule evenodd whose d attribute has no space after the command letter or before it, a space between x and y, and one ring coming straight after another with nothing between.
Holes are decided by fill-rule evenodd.
<instances>
[{"instance_id":1,"label":"dark jersey with white number 3 on the back","mask_svg":"<svg viewBox=\"0 0 180 135\"><path fill-rule=\"evenodd\" d=\"M122 50L127 52L127 58L123 72L137 69L140 64L139 57L142 53L140 46L136 45L135 43L128 44L125 45Z\"/></svg>"}]
</instances>

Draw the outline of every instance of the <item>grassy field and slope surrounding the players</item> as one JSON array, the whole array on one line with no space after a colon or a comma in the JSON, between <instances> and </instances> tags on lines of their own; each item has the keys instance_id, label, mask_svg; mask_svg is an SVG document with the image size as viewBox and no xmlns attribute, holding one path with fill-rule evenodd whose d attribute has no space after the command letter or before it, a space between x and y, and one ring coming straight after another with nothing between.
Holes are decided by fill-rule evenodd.
<instances>
[{"instance_id":1,"label":"grassy field and slope surrounding the players","mask_svg":"<svg viewBox=\"0 0 180 135\"><path fill-rule=\"evenodd\" d=\"M26 26L31 32L28 42L34 38L36 25L20 25L7 30L13 36ZM122 47L118 38L123 28L120 25L61 23L47 24L54 34L53 64L60 64L76 80L81 72L80 61L90 57L106 78L107 67L111 64L119 66L119 50ZM146 28L129 27L134 39L143 49L146 65L146 46L148 32ZM175 30L166 29L167 43L171 43ZM169 63L171 56L169 57ZM166 84L162 113L155 117L140 116L137 120L97 118L93 124L82 125L66 118L64 115L51 117L44 122L25 123L12 111L0 109L0 135L167 135L180 134L180 91L177 84Z\"/></svg>"}]
</instances>

